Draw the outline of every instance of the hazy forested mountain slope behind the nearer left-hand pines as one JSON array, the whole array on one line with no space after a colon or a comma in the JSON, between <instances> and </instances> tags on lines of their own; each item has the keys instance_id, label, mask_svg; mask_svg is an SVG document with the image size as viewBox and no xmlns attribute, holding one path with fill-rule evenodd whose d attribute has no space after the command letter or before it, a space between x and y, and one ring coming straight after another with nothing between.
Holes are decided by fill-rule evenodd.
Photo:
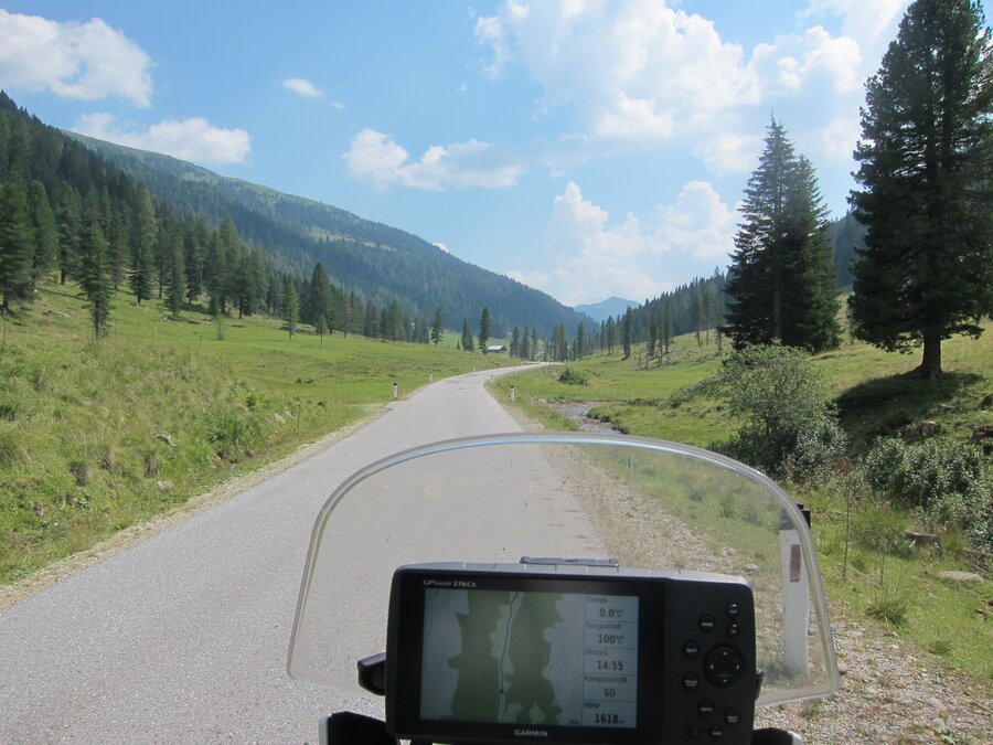
<instances>
[{"instance_id":1,"label":"hazy forested mountain slope behind the nearer left-hand pines","mask_svg":"<svg viewBox=\"0 0 993 745\"><path fill-rule=\"evenodd\" d=\"M332 283L359 291L378 306L398 299L412 315L441 308L448 328L473 326L490 309L492 333L514 326L546 334L583 316L513 279L468 264L416 235L363 220L350 212L274 189L217 175L161 156L70 134L148 187L183 213L202 213L217 224L229 216L241 237L277 264L308 276L321 262Z\"/></svg>"}]
</instances>

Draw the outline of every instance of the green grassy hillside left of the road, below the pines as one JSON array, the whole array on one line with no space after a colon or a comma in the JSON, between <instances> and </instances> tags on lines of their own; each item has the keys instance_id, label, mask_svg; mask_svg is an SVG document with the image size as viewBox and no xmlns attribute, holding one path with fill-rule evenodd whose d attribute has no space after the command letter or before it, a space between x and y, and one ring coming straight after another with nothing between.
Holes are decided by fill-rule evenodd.
<instances>
[{"instance_id":1,"label":"green grassy hillside left of the road, below the pines","mask_svg":"<svg viewBox=\"0 0 993 745\"><path fill-rule=\"evenodd\" d=\"M218 339L223 336L223 339ZM0 318L0 583L184 502L435 379L505 358L298 333L75 286Z\"/></svg>"}]
</instances>

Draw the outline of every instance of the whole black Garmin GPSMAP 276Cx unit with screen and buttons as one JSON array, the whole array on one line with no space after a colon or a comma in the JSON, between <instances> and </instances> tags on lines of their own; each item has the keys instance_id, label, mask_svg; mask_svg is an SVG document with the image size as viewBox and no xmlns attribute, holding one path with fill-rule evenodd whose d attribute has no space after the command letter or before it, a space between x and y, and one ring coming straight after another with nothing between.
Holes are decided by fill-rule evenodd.
<instances>
[{"instance_id":1,"label":"whole black Garmin GPSMAP 276Cx unit with screen and buttons","mask_svg":"<svg viewBox=\"0 0 993 745\"><path fill-rule=\"evenodd\" d=\"M611 562L417 564L393 577L386 725L433 743L749 743L740 578Z\"/></svg>"}]
</instances>

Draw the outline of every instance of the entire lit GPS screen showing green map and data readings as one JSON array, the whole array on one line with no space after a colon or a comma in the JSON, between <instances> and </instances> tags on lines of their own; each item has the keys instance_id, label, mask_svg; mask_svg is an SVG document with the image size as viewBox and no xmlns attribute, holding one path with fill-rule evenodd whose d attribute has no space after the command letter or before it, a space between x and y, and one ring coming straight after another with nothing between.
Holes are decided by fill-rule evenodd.
<instances>
[{"instance_id":1,"label":"entire lit GPS screen showing green map and data readings","mask_svg":"<svg viewBox=\"0 0 993 745\"><path fill-rule=\"evenodd\" d=\"M420 717L638 726L638 597L426 588Z\"/></svg>"}]
</instances>

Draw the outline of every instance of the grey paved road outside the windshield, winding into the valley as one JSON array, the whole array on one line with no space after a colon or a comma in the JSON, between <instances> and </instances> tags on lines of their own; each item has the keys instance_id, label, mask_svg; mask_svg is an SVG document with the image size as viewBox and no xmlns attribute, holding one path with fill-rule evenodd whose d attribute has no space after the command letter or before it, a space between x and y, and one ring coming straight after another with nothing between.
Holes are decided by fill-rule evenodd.
<instances>
[{"instance_id":1,"label":"grey paved road outside the windshield, winding into the valley","mask_svg":"<svg viewBox=\"0 0 993 745\"><path fill-rule=\"evenodd\" d=\"M0 611L0 742L313 742L342 699L285 666L318 510L383 456L517 429L484 391L492 374L395 402L310 459Z\"/></svg>"}]
</instances>

